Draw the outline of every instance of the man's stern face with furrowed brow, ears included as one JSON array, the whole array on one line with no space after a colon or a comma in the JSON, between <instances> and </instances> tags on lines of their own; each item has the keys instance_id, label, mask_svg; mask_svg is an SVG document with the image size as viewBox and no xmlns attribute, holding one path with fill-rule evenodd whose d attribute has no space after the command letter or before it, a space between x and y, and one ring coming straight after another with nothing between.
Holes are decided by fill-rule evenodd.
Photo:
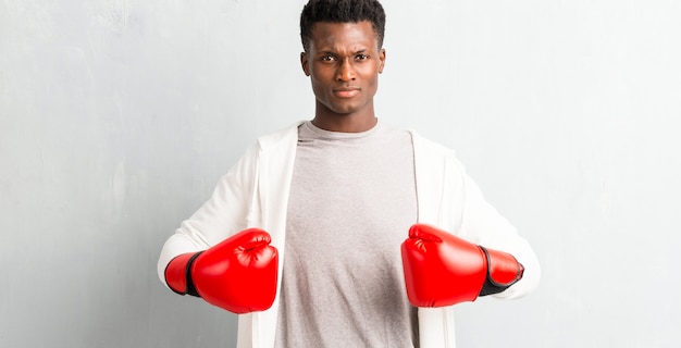
<instances>
[{"instance_id":1,"label":"man's stern face with furrowed brow, ears included","mask_svg":"<svg viewBox=\"0 0 681 348\"><path fill-rule=\"evenodd\" d=\"M315 23L300 60L312 83L318 115L373 116L385 50L379 48L371 22Z\"/></svg>"}]
</instances>

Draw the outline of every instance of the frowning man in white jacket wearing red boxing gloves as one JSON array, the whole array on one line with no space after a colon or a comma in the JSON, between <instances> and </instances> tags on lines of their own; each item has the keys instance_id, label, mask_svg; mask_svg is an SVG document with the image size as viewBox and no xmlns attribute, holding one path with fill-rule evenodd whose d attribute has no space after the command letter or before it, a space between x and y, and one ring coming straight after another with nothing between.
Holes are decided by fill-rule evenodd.
<instances>
[{"instance_id":1,"label":"frowning man in white jacket wearing red boxing gloves","mask_svg":"<svg viewBox=\"0 0 681 348\"><path fill-rule=\"evenodd\" d=\"M239 347L453 347L453 304L538 283L453 151L376 117L384 26L375 0L310 0L314 117L260 138L163 247L164 284L239 313Z\"/></svg>"}]
</instances>

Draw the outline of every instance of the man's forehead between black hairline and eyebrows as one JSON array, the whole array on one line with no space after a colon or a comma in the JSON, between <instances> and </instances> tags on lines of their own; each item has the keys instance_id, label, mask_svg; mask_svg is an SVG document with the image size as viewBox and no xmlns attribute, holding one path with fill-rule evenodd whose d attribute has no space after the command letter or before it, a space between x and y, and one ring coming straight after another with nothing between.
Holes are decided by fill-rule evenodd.
<instances>
[{"instance_id":1,"label":"man's forehead between black hairline and eyebrows","mask_svg":"<svg viewBox=\"0 0 681 348\"><path fill-rule=\"evenodd\" d=\"M369 21L358 23L314 23L310 44L315 49L349 46L377 47L376 33Z\"/></svg>"}]
</instances>

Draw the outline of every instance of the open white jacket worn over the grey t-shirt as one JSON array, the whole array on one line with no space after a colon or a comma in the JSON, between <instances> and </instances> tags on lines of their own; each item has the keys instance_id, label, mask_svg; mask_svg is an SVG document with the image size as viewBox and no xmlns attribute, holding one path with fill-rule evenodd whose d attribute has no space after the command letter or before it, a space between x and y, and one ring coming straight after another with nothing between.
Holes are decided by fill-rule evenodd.
<instances>
[{"instance_id":1,"label":"open white jacket worn over the grey t-shirt","mask_svg":"<svg viewBox=\"0 0 681 348\"><path fill-rule=\"evenodd\" d=\"M158 263L163 284L163 272L173 258L205 250L248 227L269 232L272 245L278 249L280 258L284 258L286 209L298 140L297 126L258 139L220 179L210 200L166 240ZM418 222L513 254L525 268L523 278L494 296L518 298L531 293L538 284L541 271L530 245L484 200L454 151L414 132L411 135ZM280 274L283 264L280 262ZM278 279L281 286L282 277ZM237 347L273 347L277 309L278 296L267 311L239 314ZM420 308L419 337L423 348L455 347L453 308Z\"/></svg>"}]
</instances>

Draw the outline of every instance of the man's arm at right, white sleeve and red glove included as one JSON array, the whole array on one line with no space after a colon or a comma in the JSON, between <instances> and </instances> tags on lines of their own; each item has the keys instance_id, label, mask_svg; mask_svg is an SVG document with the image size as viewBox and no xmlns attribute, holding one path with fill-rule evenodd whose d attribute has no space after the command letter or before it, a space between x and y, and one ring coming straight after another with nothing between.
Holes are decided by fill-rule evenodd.
<instances>
[{"instance_id":1,"label":"man's arm at right, white sleeve and red glove included","mask_svg":"<svg viewBox=\"0 0 681 348\"><path fill-rule=\"evenodd\" d=\"M433 233L410 232L410 238L405 241L407 250L403 245L408 293L409 287L412 287L412 294L417 293L417 287L421 287L421 294L426 294L416 299L416 302L426 306L414 306L442 307L474 300L484 295L519 298L530 294L538 284L541 270L527 240L484 199L454 151L420 137L414 140L418 140L414 141L414 149L419 154L419 222L437 226L446 231L443 233L447 236L456 237L431 238L429 235ZM442 239L442 243L436 239ZM430 261L424 261L428 253L433 256L428 257ZM487 257L491 259L487 260ZM497 262L494 262L495 259ZM498 260L504 262L499 263ZM486 276L494 279L494 274L499 274L495 264L508 265L500 273L502 282L495 282L502 286L486 284L490 283ZM432 272L433 268L442 272ZM518 277L506 276L512 270ZM431 275L426 275L429 273ZM451 276L445 276L448 273ZM437 297L435 294L444 296Z\"/></svg>"}]
</instances>

